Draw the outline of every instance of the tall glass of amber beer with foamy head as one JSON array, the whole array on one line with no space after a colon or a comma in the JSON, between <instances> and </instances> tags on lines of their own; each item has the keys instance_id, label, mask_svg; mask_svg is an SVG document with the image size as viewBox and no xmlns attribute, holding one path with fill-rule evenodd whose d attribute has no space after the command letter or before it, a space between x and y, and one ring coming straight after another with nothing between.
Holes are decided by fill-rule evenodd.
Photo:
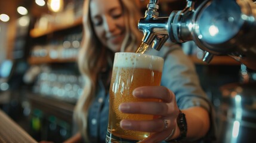
<instances>
[{"instance_id":1,"label":"tall glass of amber beer with foamy head","mask_svg":"<svg viewBox=\"0 0 256 143\"><path fill-rule=\"evenodd\" d=\"M140 141L149 136L148 132L124 130L120 127L120 122L122 119L152 120L153 115L124 114L118 107L122 102L158 101L135 98L132 96L132 91L140 86L159 86L163 64L163 58L153 55L132 52L115 54L109 91L109 125L106 142L124 142L125 139Z\"/></svg>"}]
</instances>

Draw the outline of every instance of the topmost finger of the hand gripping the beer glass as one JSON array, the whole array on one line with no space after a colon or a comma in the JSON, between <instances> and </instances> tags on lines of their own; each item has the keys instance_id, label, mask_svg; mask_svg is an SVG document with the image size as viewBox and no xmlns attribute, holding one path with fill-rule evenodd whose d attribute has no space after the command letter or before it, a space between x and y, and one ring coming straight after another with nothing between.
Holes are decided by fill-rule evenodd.
<instances>
[{"instance_id":1,"label":"topmost finger of the hand gripping the beer glass","mask_svg":"<svg viewBox=\"0 0 256 143\"><path fill-rule=\"evenodd\" d=\"M174 94L164 86L142 86L132 92L137 98L156 98L163 102L171 102Z\"/></svg>"}]
</instances>

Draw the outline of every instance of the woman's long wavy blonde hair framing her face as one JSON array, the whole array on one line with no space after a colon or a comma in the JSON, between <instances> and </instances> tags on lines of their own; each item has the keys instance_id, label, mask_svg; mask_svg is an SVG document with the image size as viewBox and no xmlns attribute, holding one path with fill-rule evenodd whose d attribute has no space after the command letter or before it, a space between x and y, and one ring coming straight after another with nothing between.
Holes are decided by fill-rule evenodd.
<instances>
[{"instance_id":1,"label":"woman's long wavy blonde hair framing her face","mask_svg":"<svg viewBox=\"0 0 256 143\"><path fill-rule=\"evenodd\" d=\"M104 1L104 0L103 0ZM126 35L122 42L121 51L135 52L138 48L142 33L138 31L137 23L140 11L135 0L119 0L125 17ZM88 140L87 116L88 108L94 100L97 76L100 73L104 58L107 57L107 49L99 41L94 33L90 19L90 0L84 2L84 38L81 51L78 55L78 66L84 77L85 88L79 98L74 113L74 119L78 123L82 136Z\"/></svg>"}]
</instances>

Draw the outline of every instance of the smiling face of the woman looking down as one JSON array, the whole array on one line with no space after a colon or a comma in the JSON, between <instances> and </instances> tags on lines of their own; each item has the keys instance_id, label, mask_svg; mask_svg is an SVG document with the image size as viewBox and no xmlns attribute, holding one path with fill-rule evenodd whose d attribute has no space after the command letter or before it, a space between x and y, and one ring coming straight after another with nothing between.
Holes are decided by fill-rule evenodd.
<instances>
[{"instance_id":1,"label":"smiling face of the woman looking down","mask_svg":"<svg viewBox=\"0 0 256 143\"><path fill-rule=\"evenodd\" d=\"M120 2L91 0L90 13L92 26L100 42L111 51L119 52L125 37L125 18Z\"/></svg>"}]
</instances>

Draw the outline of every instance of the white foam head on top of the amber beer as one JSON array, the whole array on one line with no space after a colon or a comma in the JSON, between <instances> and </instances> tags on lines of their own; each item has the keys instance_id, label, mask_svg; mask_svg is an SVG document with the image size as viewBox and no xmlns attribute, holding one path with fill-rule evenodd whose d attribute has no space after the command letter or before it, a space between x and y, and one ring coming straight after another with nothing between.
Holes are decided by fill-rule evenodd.
<instances>
[{"instance_id":1,"label":"white foam head on top of the amber beer","mask_svg":"<svg viewBox=\"0 0 256 143\"><path fill-rule=\"evenodd\" d=\"M135 52L116 52L113 66L152 69L162 72L163 64L164 59L155 55Z\"/></svg>"}]
</instances>

